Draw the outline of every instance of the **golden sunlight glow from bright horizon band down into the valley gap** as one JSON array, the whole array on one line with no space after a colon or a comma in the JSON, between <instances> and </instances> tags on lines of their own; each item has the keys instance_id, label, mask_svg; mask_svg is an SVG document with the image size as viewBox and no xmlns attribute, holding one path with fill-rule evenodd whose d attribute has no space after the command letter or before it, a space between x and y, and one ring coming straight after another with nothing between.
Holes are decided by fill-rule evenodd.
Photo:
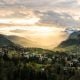
<instances>
[{"instance_id":1,"label":"golden sunlight glow from bright horizon band down into the valley gap","mask_svg":"<svg viewBox=\"0 0 80 80\"><path fill-rule=\"evenodd\" d=\"M34 43L37 43L37 47L51 49L51 47L57 46L63 39L66 38L66 34L63 32L63 30L64 28L37 25L11 26L0 28L0 33L24 37Z\"/></svg>"}]
</instances>

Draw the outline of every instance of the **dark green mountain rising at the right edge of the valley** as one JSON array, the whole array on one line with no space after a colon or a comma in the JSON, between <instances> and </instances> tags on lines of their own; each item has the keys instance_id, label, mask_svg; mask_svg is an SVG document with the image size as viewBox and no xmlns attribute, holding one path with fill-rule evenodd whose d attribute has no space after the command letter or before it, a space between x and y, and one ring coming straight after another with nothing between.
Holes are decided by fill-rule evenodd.
<instances>
[{"instance_id":1,"label":"dark green mountain rising at the right edge of the valley","mask_svg":"<svg viewBox=\"0 0 80 80\"><path fill-rule=\"evenodd\" d=\"M80 31L75 31L70 34L69 38L63 41L55 50L58 51L79 51L80 46ZM80 52L80 51L79 51Z\"/></svg>"}]
</instances>

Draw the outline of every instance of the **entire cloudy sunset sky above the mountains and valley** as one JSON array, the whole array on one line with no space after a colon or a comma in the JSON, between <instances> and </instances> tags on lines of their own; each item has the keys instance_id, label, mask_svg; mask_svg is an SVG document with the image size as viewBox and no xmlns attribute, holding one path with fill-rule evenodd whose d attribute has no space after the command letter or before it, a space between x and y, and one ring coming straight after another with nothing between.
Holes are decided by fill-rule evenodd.
<instances>
[{"instance_id":1,"label":"entire cloudy sunset sky above the mountains and valley","mask_svg":"<svg viewBox=\"0 0 80 80\"><path fill-rule=\"evenodd\" d=\"M48 46L66 39L67 28L80 29L80 0L0 0L2 34L29 37Z\"/></svg>"}]
</instances>

